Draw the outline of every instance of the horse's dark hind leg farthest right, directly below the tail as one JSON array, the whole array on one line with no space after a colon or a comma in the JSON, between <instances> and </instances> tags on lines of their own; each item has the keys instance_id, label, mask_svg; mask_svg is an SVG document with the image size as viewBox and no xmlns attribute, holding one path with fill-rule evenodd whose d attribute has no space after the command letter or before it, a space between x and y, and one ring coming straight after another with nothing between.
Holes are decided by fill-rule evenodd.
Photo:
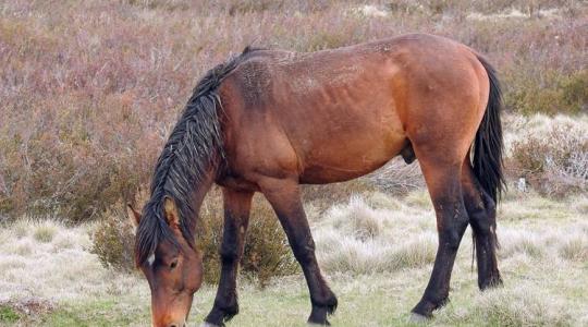
<instances>
[{"instance_id":1,"label":"horse's dark hind leg farthest right, directly below the tail","mask_svg":"<svg viewBox=\"0 0 588 327\"><path fill-rule=\"evenodd\" d=\"M497 206L482 190L469 162L462 170L464 202L474 232L480 290L502 283L497 261Z\"/></svg>"}]
</instances>

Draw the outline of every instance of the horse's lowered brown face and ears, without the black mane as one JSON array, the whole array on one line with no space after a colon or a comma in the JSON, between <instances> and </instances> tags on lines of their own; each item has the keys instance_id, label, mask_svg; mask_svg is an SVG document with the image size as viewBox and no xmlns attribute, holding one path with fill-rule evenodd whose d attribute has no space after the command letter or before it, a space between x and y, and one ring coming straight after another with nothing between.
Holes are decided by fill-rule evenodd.
<instances>
[{"instance_id":1,"label":"horse's lowered brown face and ears, without the black mane","mask_svg":"<svg viewBox=\"0 0 588 327\"><path fill-rule=\"evenodd\" d=\"M135 226L142 215L128 205ZM174 202L164 199L164 218L175 241L163 238L147 259L137 262L151 289L152 326L185 326L194 293L203 282L203 258L188 244L180 229ZM138 238L138 233L137 233Z\"/></svg>"}]
</instances>

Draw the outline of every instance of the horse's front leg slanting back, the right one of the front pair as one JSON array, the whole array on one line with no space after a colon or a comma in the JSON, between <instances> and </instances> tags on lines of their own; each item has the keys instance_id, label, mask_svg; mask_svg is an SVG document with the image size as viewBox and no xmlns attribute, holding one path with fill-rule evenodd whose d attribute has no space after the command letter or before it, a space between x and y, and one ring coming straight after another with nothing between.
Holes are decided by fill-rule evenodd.
<instances>
[{"instance_id":1,"label":"horse's front leg slanting back, the right one of the front pair","mask_svg":"<svg viewBox=\"0 0 588 327\"><path fill-rule=\"evenodd\" d=\"M336 298L327 286L317 264L315 241L304 213L298 183L292 180L267 179L259 184L275 210L306 277L313 304L308 323L329 325L327 315L335 311Z\"/></svg>"}]
</instances>

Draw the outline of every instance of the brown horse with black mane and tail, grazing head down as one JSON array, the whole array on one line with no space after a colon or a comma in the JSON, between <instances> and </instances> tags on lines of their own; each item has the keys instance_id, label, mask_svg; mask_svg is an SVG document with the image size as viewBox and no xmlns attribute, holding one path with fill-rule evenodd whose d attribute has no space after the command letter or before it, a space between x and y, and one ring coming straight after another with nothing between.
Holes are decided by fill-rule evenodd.
<instances>
[{"instance_id":1,"label":"brown horse with black mane and tail, grazing head down","mask_svg":"<svg viewBox=\"0 0 588 327\"><path fill-rule=\"evenodd\" d=\"M197 214L213 183L223 191L224 232L218 293L206 322L223 325L238 312L237 265L252 197L261 192L306 277L308 322L328 324L336 298L315 257L299 185L351 180L397 155L418 159L439 232L415 317L430 317L448 300L468 223L480 289L501 283L500 107L490 64L470 48L431 35L313 53L245 49L216 66L196 86L159 157L143 215L133 210L136 263L151 289L154 325L185 324L203 276Z\"/></svg>"}]
</instances>

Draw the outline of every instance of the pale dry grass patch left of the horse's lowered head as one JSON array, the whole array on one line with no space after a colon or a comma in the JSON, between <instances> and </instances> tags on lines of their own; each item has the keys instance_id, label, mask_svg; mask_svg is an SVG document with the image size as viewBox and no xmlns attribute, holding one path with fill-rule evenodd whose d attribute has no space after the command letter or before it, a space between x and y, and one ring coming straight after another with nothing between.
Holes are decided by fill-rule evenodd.
<instances>
[{"instance_id":1,"label":"pale dry grass patch left of the horse's lowered head","mask_svg":"<svg viewBox=\"0 0 588 327\"><path fill-rule=\"evenodd\" d=\"M19 230L23 228L32 231L30 235L20 237ZM0 301L35 298L62 302L136 293L133 287L136 277L105 269L89 252L91 228L30 219L3 228L0 232L0 239L4 240L0 244ZM38 237L39 231L42 237ZM46 237L48 233L50 238Z\"/></svg>"}]
</instances>

